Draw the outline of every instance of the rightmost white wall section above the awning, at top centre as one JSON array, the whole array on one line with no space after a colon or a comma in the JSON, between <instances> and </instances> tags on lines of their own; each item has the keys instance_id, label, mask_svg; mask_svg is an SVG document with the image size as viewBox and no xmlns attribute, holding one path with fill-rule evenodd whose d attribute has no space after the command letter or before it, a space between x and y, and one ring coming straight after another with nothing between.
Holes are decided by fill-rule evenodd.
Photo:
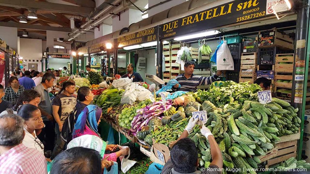
<instances>
[{"instance_id":1,"label":"rightmost white wall section above the awning, at top centre","mask_svg":"<svg viewBox=\"0 0 310 174\"><path fill-rule=\"evenodd\" d=\"M156 5L158 3L162 2L162 0L148 0L148 7L152 7L153 5ZM148 10L148 17L153 16L159 12L165 11L171 7L174 7L176 5L179 5L183 2L186 2L186 0L172 0L169 2L166 2L164 4L161 4L159 6L156 6L154 8L151 8Z\"/></svg>"}]
</instances>

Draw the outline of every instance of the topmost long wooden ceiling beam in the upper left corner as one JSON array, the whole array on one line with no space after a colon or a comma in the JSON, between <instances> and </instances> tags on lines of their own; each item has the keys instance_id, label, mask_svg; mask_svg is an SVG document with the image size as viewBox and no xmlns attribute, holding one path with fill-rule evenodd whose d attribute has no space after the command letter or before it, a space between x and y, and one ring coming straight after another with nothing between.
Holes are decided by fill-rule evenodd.
<instances>
[{"instance_id":1,"label":"topmost long wooden ceiling beam in the upper left corner","mask_svg":"<svg viewBox=\"0 0 310 174\"><path fill-rule=\"evenodd\" d=\"M34 8L64 13L88 15L94 8L78 7L72 5L56 4L51 2L40 2L33 0L1 0L0 5L18 8Z\"/></svg>"}]
</instances>

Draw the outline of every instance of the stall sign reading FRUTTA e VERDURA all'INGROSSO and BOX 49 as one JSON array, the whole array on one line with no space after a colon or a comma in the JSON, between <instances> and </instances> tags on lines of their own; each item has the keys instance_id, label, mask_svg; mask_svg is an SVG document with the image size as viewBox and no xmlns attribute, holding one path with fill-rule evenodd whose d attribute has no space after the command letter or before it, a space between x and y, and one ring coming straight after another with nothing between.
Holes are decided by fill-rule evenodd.
<instances>
[{"instance_id":1,"label":"stall sign reading FRUTTA e VERDURA all'INGROSSO and BOX 49","mask_svg":"<svg viewBox=\"0 0 310 174\"><path fill-rule=\"evenodd\" d=\"M157 29L158 29L157 27L152 27L142 31L128 34L126 36L117 37L118 48L156 41Z\"/></svg>"}]
</instances>

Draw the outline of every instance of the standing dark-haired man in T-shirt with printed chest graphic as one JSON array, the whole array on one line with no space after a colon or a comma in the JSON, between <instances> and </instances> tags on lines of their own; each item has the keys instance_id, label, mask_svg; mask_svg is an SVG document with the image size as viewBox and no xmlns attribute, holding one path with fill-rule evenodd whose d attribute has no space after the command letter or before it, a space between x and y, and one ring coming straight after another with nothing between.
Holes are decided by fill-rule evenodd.
<instances>
[{"instance_id":1,"label":"standing dark-haired man in T-shirt with printed chest graphic","mask_svg":"<svg viewBox=\"0 0 310 174\"><path fill-rule=\"evenodd\" d=\"M64 93L61 94L61 91ZM53 116L56 121L55 131L57 136L56 146L51 154L54 159L64 148L65 141L60 137L64 121L74 110L77 99L72 94L75 91L74 83L67 81L62 85L62 89L53 101Z\"/></svg>"}]
</instances>

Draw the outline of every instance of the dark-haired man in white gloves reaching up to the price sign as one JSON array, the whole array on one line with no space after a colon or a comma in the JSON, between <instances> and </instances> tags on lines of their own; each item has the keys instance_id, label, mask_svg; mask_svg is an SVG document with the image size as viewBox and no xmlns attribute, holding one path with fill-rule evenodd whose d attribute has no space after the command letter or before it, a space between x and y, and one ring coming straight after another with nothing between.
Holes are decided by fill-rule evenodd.
<instances>
[{"instance_id":1,"label":"dark-haired man in white gloves reaching up to the price sign","mask_svg":"<svg viewBox=\"0 0 310 174\"><path fill-rule=\"evenodd\" d=\"M204 171L197 171L198 152L193 140L187 138L196 124L201 125L200 132L210 143L212 163ZM184 132L170 150L170 159L162 169L162 174L221 174L223 157L211 131L199 119L191 118Z\"/></svg>"}]
</instances>

